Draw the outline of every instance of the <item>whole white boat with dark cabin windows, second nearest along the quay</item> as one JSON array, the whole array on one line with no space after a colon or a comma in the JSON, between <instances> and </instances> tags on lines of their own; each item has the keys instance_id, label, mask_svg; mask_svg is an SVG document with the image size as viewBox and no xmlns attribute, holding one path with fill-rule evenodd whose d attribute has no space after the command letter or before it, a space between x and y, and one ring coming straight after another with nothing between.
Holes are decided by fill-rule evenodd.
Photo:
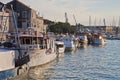
<instances>
[{"instance_id":1,"label":"whole white boat with dark cabin windows, second nearest along the quay","mask_svg":"<svg viewBox=\"0 0 120 80\"><path fill-rule=\"evenodd\" d=\"M28 32L25 30L26 33L22 31L19 33L21 47L28 49L30 68L47 64L56 59L55 38L34 31L32 28L29 28Z\"/></svg>"}]
</instances>

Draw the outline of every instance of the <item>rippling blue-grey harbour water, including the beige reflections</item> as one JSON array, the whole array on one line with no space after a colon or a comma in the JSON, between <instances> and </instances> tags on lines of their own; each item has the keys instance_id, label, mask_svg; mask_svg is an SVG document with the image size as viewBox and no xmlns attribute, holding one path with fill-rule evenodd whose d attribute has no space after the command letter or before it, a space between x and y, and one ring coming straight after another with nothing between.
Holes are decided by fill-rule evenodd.
<instances>
[{"instance_id":1,"label":"rippling blue-grey harbour water, including the beige reflections","mask_svg":"<svg viewBox=\"0 0 120 80\"><path fill-rule=\"evenodd\" d=\"M65 52L54 62L29 71L20 80L120 80L120 41Z\"/></svg>"}]
</instances>

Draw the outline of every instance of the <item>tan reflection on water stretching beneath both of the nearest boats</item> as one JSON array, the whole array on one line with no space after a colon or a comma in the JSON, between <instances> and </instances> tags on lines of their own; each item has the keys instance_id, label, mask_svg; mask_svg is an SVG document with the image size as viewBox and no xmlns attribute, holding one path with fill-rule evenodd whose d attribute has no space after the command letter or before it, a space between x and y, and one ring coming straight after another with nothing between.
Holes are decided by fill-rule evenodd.
<instances>
[{"instance_id":1,"label":"tan reflection on water stretching beneath both of the nearest boats","mask_svg":"<svg viewBox=\"0 0 120 80\"><path fill-rule=\"evenodd\" d=\"M56 61L56 60L55 60ZM54 73L52 69L52 63L55 63L55 61L45 64L42 66L33 67L29 70L28 73L23 74L20 77L12 78L9 80L47 80L52 77L52 74Z\"/></svg>"}]
</instances>

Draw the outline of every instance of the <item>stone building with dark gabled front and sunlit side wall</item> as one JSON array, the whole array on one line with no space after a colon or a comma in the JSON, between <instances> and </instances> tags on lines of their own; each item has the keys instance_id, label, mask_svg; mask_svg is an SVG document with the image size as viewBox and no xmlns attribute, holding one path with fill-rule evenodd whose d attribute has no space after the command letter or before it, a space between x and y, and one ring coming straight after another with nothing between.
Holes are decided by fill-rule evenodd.
<instances>
[{"instance_id":1,"label":"stone building with dark gabled front and sunlit side wall","mask_svg":"<svg viewBox=\"0 0 120 80\"><path fill-rule=\"evenodd\" d=\"M47 25L44 24L43 18L39 17L36 10L19 0L12 0L6 5L9 9L10 5L13 5L13 9L17 13L18 28L27 29L28 27L32 27L39 32L46 31Z\"/></svg>"}]
</instances>

